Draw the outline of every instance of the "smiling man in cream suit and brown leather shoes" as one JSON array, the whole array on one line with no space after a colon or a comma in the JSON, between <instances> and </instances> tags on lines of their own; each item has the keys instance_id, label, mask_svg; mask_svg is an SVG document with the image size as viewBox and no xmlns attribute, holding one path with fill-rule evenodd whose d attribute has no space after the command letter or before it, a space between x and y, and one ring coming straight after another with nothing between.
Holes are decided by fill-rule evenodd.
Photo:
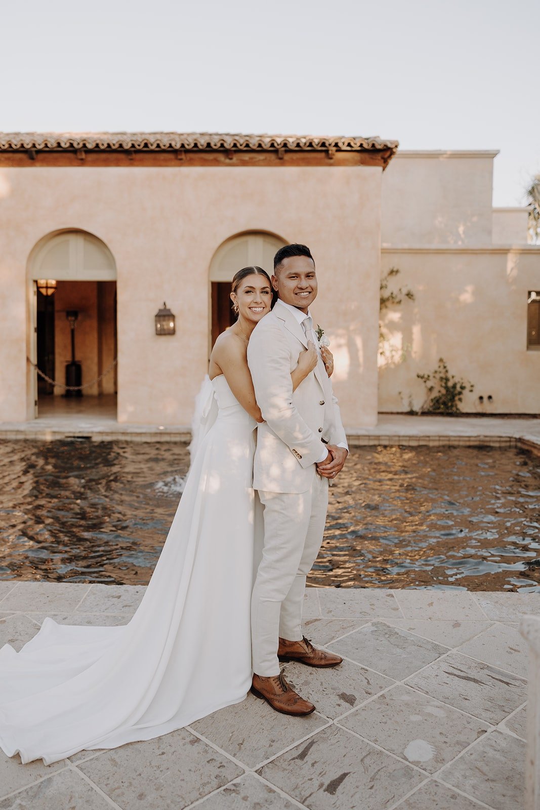
<instances>
[{"instance_id":1,"label":"smiling man in cream suit and brown leather shoes","mask_svg":"<svg viewBox=\"0 0 540 810\"><path fill-rule=\"evenodd\" d=\"M286 245L274 256L274 309L249 339L248 364L263 423L257 428L253 488L264 505L264 545L251 608L253 693L284 714L315 710L287 684L279 661L335 667L342 659L317 650L301 630L306 575L321 548L328 482L342 470L347 440L321 352L293 393L291 371L312 341L309 305L317 296L313 256Z\"/></svg>"}]
</instances>

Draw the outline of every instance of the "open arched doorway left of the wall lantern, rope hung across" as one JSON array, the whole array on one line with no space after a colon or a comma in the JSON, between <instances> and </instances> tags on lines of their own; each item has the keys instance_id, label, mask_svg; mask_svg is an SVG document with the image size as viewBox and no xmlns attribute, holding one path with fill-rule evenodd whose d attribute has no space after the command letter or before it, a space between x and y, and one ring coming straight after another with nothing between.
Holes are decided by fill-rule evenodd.
<instances>
[{"instance_id":1,"label":"open arched doorway left of the wall lantern, rope hung across","mask_svg":"<svg viewBox=\"0 0 540 810\"><path fill-rule=\"evenodd\" d=\"M116 418L117 369L117 269L113 254L98 237L82 230L47 234L28 258L29 339L28 356L47 377L79 385L69 377L68 364L79 364L83 399L71 411L101 412ZM72 356L74 349L76 356ZM47 382L28 367L29 412L49 416L59 411L58 399L66 391ZM73 399L80 393L67 392ZM65 415L66 407L62 411Z\"/></svg>"}]
</instances>

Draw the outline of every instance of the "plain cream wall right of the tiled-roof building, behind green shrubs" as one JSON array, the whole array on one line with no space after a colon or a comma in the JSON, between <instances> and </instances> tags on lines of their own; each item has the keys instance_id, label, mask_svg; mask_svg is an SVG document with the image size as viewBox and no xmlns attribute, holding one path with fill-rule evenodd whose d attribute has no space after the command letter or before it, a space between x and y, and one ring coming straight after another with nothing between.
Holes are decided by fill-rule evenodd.
<instances>
[{"instance_id":1,"label":"plain cream wall right of the tiled-roof building, behind green shrubs","mask_svg":"<svg viewBox=\"0 0 540 810\"><path fill-rule=\"evenodd\" d=\"M383 175L381 273L397 267L389 289L415 301L381 313L379 411L418 409L416 375L440 357L474 383L462 411L540 411L540 352L527 349L540 246L526 244L526 208L492 208L496 154L398 152Z\"/></svg>"}]
</instances>

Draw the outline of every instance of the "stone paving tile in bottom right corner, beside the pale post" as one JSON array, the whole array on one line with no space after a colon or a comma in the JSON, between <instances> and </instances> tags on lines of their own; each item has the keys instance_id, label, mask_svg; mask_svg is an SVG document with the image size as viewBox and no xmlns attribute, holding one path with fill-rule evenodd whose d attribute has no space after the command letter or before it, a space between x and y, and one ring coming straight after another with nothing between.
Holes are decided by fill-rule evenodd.
<instances>
[{"instance_id":1,"label":"stone paving tile in bottom right corner, beside the pale post","mask_svg":"<svg viewBox=\"0 0 540 810\"><path fill-rule=\"evenodd\" d=\"M525 743L493 731L440 771L440 779L495 810L523 807Z\"/></svg>"}]
</instances>

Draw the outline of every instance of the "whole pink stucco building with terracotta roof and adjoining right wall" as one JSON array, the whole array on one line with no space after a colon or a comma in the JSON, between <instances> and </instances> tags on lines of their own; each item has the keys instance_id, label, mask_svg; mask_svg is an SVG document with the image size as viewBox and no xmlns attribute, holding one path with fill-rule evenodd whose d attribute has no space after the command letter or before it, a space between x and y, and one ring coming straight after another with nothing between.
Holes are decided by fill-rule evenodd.
<instances>
[{"instance_id":1,"label":"whole pink stucco building with terracotta roof and adjoining right wall","mask_svg":"<svg viewBox=\"0 0 540 810\"><path fill-rule=\"evenodd\" d=\"M495 154L379 138L0 134L0 422L32 420L62 394L33 364L65 381L76 312L83 384L104 374L83 402L114 401L123 423L188 425L233 273L270 271L289 241L316 258L315 320L348 428L418 407L416 374L440 356L474 383L464 410L538 412L540 247L526 244L526 209L491 206ZM393 266L415 301L385 309L381 342ZM174 335L156 335L164 301Z\"/></svg>"}]
</instances>

